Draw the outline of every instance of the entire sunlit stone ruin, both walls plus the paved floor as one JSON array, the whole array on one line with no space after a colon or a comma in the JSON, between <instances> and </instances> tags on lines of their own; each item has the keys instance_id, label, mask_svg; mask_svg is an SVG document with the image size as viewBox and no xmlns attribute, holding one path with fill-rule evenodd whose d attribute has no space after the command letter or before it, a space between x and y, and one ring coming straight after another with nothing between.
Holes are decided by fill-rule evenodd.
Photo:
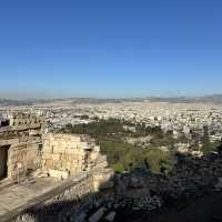
<instances>
[{"instance_id":1,"label":"entire sunlit stone ruin, both walls plus the paved floor","mask_svg":"<svg viewBox=\"0 0 222 222\"><path fill-rule=\"evenodd\" d=\"M0 118L0 221L13 221L40 202L79 199L95 192L112 171L87 135L43 133L41 118ZM59 198L58 198L59 196Z\"/></svg>"}]
</instances>

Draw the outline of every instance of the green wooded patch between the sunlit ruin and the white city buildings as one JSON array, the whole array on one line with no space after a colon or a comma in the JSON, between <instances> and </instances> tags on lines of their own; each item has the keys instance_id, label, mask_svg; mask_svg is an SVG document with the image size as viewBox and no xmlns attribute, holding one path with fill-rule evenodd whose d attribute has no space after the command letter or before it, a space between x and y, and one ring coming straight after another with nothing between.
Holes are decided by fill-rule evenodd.
<instances>
[{"instance_id":1,"label":"green wooded patch between the sunlit ruin and the white city buildings","mask_svg":"<svg viewBox=\"0 0 222 222\"><path fill-rule=\"evenodd\" d=\"M163 133L159 127L133 124L124 120L98 120L89 124L68 124L61 130L67 133L89 134L95 139L101 152L107 155L109 165L117 172L147 167L153 172L170 171L172 158L170 152L160 150L161 145L172 145L172 133ZM141 148L128 143L125 138L152 135L150 145Z\"/></svg>"}]
</instances>

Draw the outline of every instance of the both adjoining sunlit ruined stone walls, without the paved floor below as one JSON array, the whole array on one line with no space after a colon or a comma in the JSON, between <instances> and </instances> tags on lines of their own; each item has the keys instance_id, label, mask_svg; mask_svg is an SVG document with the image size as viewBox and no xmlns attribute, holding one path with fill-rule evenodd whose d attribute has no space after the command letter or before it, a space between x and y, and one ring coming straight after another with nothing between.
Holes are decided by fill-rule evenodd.
<instances>
[{"instance_id":1,"label":"both adjoining sunlit ruined stone walls, without the paved floor below","mask_svg":"<svg viewBox=\"0 0 222 222\"><path fill-rule=\"evenodd\" d=\"M107 158L87 135L48 133L42 137L42 122L24 113L9 114L9 125L0 128L0 149L8 148L7 176L12 181L24 179L29 172L41 169L51 176L67 179L82 171L102 171ZM4 158L6 159L6 158ZM6 170L1 161L0 180Z\"/></svg>"}]
</instances>

